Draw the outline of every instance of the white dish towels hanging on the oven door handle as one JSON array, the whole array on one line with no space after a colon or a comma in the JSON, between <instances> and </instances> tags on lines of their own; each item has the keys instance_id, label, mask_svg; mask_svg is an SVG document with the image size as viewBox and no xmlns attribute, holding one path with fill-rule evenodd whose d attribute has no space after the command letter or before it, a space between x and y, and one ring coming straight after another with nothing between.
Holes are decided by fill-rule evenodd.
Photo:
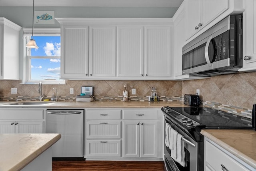
<instances>
[{"instance_id":1,"label":"white dish towels hanging on the oven door handle","mask_svg":"<svg viewBox=\"0 0 256 171\"><path fill-rule=\"evenodd\" d=\"M170 146L171 157L183 167L185 166L185 149L184 141L182 141L182 135L180 135L174 129L171 130Z\"/></svg>"}]
</instances>

